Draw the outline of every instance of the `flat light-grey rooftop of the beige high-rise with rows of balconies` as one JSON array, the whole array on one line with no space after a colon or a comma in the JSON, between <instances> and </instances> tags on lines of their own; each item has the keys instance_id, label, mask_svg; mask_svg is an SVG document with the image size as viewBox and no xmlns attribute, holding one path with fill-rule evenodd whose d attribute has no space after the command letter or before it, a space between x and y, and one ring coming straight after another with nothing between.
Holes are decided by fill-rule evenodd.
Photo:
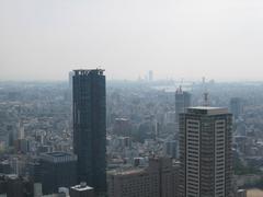
<instances>
[{"instance_id":1,"label":"flat light-grey rooftop of the beige high-rise with rows of balconies","mask_svg":"<svg viewBox=\"0 0 263 197\"><path fill-rule=\"evenodd\" d=\"M198 114L198 115L222 115L229 114L226 107L210 107L210 106L196 106L188 107L187 114Z\"/></svg>"}]
</instances>

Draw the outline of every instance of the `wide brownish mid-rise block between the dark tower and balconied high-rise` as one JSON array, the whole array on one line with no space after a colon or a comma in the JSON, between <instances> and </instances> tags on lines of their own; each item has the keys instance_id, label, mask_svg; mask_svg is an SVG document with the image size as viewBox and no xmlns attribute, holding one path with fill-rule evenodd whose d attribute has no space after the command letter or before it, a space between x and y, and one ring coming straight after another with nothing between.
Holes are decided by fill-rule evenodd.
<instances>
[{"instance_id":1,"label":"wide brownish mid-rise block between the dark tower and balconied high-rise","mask_svg":"<svg viewBox=\"0 0 263 197\"><path fill-rule=\"evenodd\" d=\"M147 169L108 172L108 197L174 197L178 169L169 158L151 158Z\"/></svg>"}]
</instances>

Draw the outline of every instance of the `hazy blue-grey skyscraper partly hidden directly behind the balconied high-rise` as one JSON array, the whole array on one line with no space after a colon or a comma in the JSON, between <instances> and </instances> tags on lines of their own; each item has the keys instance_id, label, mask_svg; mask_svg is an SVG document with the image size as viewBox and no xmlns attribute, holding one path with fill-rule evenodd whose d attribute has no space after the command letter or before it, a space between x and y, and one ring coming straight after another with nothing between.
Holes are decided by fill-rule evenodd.
<instances>
[{"instance_id":1,"label":"hazy blue-grey skyscraper partly hidden directly behind the balconied high-rise","mask_svg":"<svg viewBox=\"0 0 263 197\"><path fill-rule=\"evenodd\" d=\"M175 92L175 124L179 125L179 115L185 113L186 108L191 106L191 94L182 91L180 86ZM179 126L176 126L179 129Z\"/></svg>"}]
</instances>

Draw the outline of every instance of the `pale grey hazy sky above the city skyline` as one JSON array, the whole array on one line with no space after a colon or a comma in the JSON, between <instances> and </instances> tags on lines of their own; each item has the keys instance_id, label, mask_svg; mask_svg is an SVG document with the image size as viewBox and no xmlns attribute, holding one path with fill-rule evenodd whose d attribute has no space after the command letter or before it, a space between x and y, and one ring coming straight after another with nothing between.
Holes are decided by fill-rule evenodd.
<instances>
[{"instance_id":1,"label":"pale grey hazy sky above the city skyline","mask_svg":"<svg viewBox=\"0 0 263 197\"><path fill-rule=\"evenodd\" d=\"M0 0L0 80L263 80L262 0Z\"/></svg>"}]
</instances>

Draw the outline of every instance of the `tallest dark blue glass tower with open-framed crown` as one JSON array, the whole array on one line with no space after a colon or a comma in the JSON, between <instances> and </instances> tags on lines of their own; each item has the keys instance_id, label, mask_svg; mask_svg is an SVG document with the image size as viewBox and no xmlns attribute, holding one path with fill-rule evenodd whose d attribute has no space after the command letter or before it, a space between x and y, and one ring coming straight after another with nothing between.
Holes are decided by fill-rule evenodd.
<instances>
[{"instance_id":1,"label":"tallest dark blue glass tower with open-framed crown","mask_svg":"<svg viewBox=\"0 0 263 197\"><path fill-rule=\"evenodd\" d=\"M73 152L78 181L106 193L106 101L104 70L75 70Z\"/></svg>"}]
</instances>

